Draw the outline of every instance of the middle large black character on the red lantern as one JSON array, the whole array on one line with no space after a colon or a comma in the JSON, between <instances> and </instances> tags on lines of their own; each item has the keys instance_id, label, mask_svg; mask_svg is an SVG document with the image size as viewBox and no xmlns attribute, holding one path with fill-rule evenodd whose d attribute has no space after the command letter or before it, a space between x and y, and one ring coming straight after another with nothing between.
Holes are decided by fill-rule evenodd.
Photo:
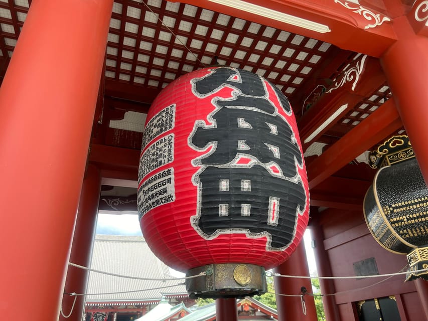
<instances>
[{"instance_id":1,"label":"middle large black character on the red lantern","mask_svg":"<svg viewBox=\"0 0 428 321\"><path fill-rule=\"evenodd\" d=\"M296 175L295 161L302 166L292 128L281 116L223 107L212 117L215 127L198 127L191 140L198 148L216 142L214 151L202 158L201 164L228 164L241 153L256 157L262 164L274 162L286 177Z\"/></svg>"}]
</instances>

